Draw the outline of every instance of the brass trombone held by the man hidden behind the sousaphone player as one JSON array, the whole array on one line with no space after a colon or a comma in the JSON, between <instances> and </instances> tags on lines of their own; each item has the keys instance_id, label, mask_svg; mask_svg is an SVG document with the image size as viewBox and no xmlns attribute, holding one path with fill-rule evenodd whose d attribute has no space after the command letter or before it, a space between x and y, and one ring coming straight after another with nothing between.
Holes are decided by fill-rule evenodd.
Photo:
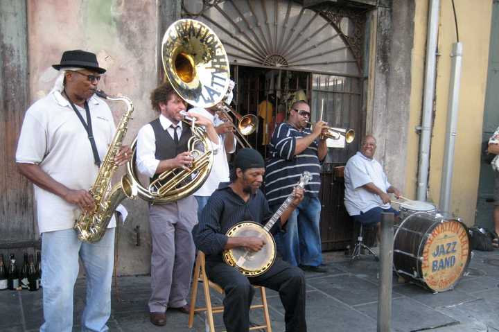
<instances>
[{"instance_id":1,"label":"brass trombone held by the man hidden behind the sousaphone player","mask_svg":"<svg viewBox=\"0 0 499 332\"><path fill-rule=\"evenodd\" d=\"M245 116L239 114L235 110L232 110L231 107L225 105L225 103L218 103L215 105L217 108L217 114L224 122L229 122L234 129L234 137L236 137L236 141L243 146L243 148L252 148L251 144L247 141L245 136L252 134L255 132L256 128L259 125L259 119L253 114L246 114ZM237 119L237 125L231 121L231 117L229 116L229 112L234 114ZM224 120L225 119L225 120Z\"/></svg>"}]
</instances>

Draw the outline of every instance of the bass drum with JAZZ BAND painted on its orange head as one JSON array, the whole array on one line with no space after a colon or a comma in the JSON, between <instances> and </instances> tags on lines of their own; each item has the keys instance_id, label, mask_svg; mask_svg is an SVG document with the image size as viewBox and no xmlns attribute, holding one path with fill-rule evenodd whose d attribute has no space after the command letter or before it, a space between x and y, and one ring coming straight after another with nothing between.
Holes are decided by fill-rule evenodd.
<instances>
[{"instance_id":1,"label":"bass drum with JAZZ BAND painted on its orange head","mask_svg":"<svg viewBox=\"0 0 499 332\"><path fill-rule=\"evenodd\" d=\"M416 212L396 226L394 270L433 292L453 289L471 258L468 229L457 219Z\"/></svg>"}]
</instances>

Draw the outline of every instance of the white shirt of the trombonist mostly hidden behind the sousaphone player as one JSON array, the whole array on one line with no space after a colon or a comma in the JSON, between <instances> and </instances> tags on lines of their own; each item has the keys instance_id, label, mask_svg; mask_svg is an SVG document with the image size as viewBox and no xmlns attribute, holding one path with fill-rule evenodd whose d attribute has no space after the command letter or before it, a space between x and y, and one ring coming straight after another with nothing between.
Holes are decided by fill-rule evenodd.
<instances>
[{"instance_id":1,"label":"white shirt of the trombonist mostly hidden behind the sousaphone player","mask_svg":"<svg viewBox=\"0 0 499 332\"><path fill-rule=\"evenodd\" d=\"M213 126L223 123L218 115L213 115L204 108L195 107L190 112L200 114L209 119ZM218 151L213 156L213 166L204 184L194 193L195 196L211 196L213 191L218 189L220 182L229 182L229 162L227 161L227 151L225 150L225 134L218 135ZM234 153L236 150L236 137L234 137L234 148L228 153Z\"/></svg>"}]
</instances>

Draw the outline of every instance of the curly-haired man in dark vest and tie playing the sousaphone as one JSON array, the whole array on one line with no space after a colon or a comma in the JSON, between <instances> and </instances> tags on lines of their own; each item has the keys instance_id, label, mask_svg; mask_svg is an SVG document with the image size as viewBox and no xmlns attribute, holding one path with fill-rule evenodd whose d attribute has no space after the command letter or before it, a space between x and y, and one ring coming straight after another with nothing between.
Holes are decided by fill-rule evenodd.
<instances>
[{"instance_id":1,"label":"curly-haired man in dark vest and tie playing the sousaphone","mask_svg":"<svg viewBox=\"0 0 499 332\"><path fill-rule=\"evenodd\" d=\"M159 117L144 125L137 135L137 168L157 179L164 171L191 166L193 156L188 141L191 127L182 123L186 105L170 83L165 82L150 96ZM200 115L189 113L204 125L213 152L218 149L218 134L213 124ZM189 313L187 296L191 285L195 247L191 230L198 223L198 203L193 195L169 204L150 204L152 238L150 321L166 324L166 309Z\"/></svg>"}]
</instances>

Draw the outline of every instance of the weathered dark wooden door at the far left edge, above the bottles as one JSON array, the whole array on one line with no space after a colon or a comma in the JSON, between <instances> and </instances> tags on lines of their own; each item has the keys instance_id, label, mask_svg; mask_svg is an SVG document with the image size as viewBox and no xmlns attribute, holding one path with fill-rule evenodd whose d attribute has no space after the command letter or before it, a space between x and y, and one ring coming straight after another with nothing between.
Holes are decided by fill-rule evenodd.
<instances>
[{"instance_id":1,"label":"weathered dark wooden door at the far left edge, above the bottles","mask_svg":"<svg viewBox=\"0 0 499 332\"><path fill-rule=\"evenodd\" d=\"M19 175L15 151L28 96L26 1L0 1L0 253L37 245L33 185ZM25 248L25 249L23 249ZM21 262L19 262L21 264Z\"/></svg>"}]
</instances>

